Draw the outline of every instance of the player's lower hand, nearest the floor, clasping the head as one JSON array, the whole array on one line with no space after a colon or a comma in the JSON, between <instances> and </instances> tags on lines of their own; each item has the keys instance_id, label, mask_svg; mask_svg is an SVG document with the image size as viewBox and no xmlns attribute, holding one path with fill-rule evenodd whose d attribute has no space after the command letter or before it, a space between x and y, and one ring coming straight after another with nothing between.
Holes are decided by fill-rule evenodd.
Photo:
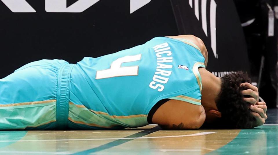
<instances>
[{"instance_id":1,"label":"player's lower hand, nearest the floor, clasping the head","mask_svg":"<svg viewBox=\"0 0 278 155\"><path fill-rule=\"evenodd\" d=\"M263 125L267 119L266 102L258 102L255 105L250 106L251 115L256 119L255 127Z\"/></svg>"}]
</instances>

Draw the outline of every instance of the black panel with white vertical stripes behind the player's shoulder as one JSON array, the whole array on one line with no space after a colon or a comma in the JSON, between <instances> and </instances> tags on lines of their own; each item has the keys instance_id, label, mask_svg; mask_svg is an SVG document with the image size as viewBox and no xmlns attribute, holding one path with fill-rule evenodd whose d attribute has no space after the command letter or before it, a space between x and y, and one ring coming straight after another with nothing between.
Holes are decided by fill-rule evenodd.
<instances>
[{"instance_id":1,"label":"black panel with white vertical stripes behind the player's shoulder","mask_svg":"<svg viewBox=\"0 0 278 155\"><path fill-rule=\"evenodd\" d=\"M193 34L204 41L209 52L207 69L219 77L231 71L249 71L246 42L233 1L200 0L198 1L199 16L195 13L195 2L192 1L191 8L189 1L172 0L180 33ZM202 2L206 2L206 8L202 8ZM213 3L216 10L213 10ZM206 17L203 17L202 9L206 9ZM213 15L214 13L216 16ZM207 35L204 33L202 19L206 19ZM216 25L215 53L212 49L211 24Z\"/></svg>"}]
</instances>

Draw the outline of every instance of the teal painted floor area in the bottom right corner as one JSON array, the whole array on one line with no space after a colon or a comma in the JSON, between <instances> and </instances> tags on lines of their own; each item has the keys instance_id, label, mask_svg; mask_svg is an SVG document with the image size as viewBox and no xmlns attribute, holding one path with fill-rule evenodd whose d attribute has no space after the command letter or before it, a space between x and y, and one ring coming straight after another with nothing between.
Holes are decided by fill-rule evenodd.
<instances>
[{"instance_id":1,"label":"teal painted floor area in the bottom right corner","mask_svg":"<svg viewBox=\"0 0 278 155\"><path fill-rule=\"evenodd\" d=\"M254 129L242 129L227 145L207 155L277 155L278 125L262 125Z\"/></svg>"}]
</instances>

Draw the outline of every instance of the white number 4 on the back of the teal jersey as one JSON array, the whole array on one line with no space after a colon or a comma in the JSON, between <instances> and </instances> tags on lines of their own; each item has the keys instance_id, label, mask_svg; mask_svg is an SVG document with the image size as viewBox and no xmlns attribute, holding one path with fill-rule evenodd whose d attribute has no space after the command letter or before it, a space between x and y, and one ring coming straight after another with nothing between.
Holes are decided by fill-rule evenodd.
<instances>
[{"instance_id":1,"label":"white number 4 on the back of the teal jersey","mask_svg":"<svg viewBox=\"0 0 278 155\"><path fill-rule=\"evenodd\" d=\"M139 66L121 67L122 63L141 60L141 54L133 56L120 57L113 61L110 69L96 72L96 79L106 79L119 76L136 76L138 75Z\"/></svg>"}]
</instances>

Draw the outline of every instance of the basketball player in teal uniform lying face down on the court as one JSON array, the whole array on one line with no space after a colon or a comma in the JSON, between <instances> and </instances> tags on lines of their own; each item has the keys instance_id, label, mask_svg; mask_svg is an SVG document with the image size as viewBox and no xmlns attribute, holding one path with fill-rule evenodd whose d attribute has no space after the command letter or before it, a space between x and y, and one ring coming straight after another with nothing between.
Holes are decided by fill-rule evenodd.
<instances>
[{"instance_id":1,"label":"basketball player in teal uniform lying face down on the court","mask_svg":"<svg viewBox=\"0 0 278 155\"><path fill-rule=\"evenodd\" d=\"M0 129L253 128L266 105L244 72L217 78L192 35L156 37L77 64L31 62L0 80Z\"/></svg>"}]
</instances>

